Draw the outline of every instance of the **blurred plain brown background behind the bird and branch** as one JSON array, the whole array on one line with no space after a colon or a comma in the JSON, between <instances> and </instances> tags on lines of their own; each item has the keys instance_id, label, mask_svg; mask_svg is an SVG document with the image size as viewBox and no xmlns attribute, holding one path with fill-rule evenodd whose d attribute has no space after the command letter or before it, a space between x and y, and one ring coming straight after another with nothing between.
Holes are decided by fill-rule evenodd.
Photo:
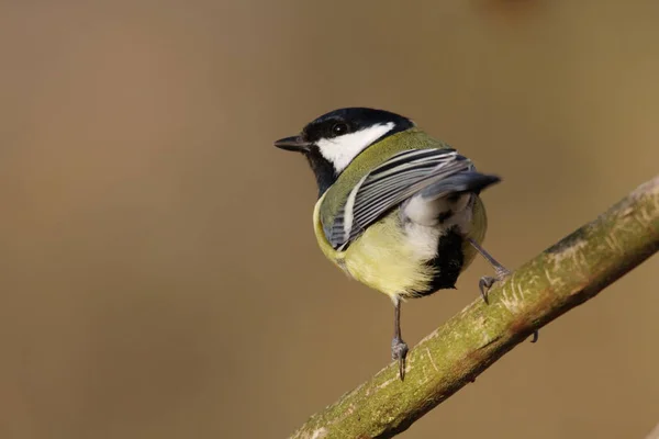
<instances>
[{"instance_id":1,"label":"blurred plain brown background behind the bird and branch","mask_svg":"<svg viewBox=\"0 0 659 439\"><path fill-rule=\"evenodd\" d=\"M0 3L0 437L277 438L389 361L392 307L326 262L272 140L400 112L504 182L516 267L659 170L659 2ZM641 438L655 257L406 438ZM403 308L415 344L478 296Z\"/></svg>"}]
</instances>

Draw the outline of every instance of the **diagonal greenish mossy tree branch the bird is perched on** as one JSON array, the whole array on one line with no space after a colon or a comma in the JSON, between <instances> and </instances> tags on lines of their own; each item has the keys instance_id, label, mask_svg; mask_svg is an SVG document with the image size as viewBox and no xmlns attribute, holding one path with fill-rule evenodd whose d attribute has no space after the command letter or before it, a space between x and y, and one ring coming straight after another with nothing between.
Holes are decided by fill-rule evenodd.
<instances>
[{"instance_id":1,"label":"diagonal greenish mossy tree branch the bird is perched on","mask_svg":"<svg viewBox=\"0 0 659 439\"><path fill-rule=\"evenodd\" d=\"M405 381L382 369L313 415L292 438L390 438L561 314L659 250L659 176L526 262L418 342Z\"/></svg>"}]
</instances>

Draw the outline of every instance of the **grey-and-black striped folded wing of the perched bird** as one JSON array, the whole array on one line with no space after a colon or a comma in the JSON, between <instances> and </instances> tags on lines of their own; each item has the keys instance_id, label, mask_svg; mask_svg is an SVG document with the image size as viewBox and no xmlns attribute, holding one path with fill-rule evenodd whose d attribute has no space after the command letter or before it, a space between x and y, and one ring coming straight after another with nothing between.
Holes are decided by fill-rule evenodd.
<instances>
[{"instance_id":1,"label":"grey-and-black striped folded wing of the perched bird","mask_svg":"<svg viewBox=\"0 0 659 439\"><path fill-rule=\"evenodd\" d=\"M345 249L370 224L415 193L472 169L455 149L411 149L396 154L355 185L334 222L324 225L327 240Z\"/></svg>"}]
</instances>

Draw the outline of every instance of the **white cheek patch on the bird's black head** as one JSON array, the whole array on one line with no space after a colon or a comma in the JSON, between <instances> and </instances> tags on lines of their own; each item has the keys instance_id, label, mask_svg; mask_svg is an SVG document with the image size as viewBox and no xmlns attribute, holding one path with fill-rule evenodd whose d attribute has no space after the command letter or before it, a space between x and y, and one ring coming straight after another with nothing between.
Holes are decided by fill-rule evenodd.
<instances>
[{"instance_id":1,"label":"white cheek patch on the bird's black head","mask_svg":"<svg viewBox=\"0 0 659 439\"><path fill-rule=\"evenodd\" d=\"M336 173L339 173L346 166L353 161L355 157L370 144L389 133L394 127L393 122L387 124L378 124L356 133L344 134L334 138L322 138L316 145L321 155L325 157L332 165Z\"/></svg>"}]
</instances>

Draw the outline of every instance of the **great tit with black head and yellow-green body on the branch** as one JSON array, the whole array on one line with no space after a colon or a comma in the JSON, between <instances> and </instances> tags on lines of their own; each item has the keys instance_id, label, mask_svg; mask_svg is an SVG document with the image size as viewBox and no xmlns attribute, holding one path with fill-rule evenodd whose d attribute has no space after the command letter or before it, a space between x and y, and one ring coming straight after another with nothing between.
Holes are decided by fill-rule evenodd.
<instances>
[{"instance_id":1,"label":"great tit with black head and yellow-green body on the branch","mask_svg":"<svg viewBox=\"0 0 659 439\"><path fill-rule=\"evenodd\" d=\"M454 289L477 251L496 272L480 281L485 302L509 274L480 246L488 221L479 193L499 177L383 110L335 110L275 146L302 153L315 175L313 227L323 254L393 302L391 353L403 380L401 301Z\"/></svg>"}]
</instances>

